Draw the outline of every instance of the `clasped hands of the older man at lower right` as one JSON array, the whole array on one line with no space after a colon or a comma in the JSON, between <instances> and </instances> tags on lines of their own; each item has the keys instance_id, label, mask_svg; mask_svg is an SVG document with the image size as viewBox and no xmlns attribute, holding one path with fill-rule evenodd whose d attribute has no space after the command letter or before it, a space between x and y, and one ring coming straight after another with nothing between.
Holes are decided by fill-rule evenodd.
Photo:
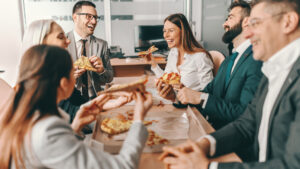
<instances>
[{"instance_id":1,"label":"clasped hands of the older man at lower right","mask_svg":"<svg viewBox=\"0 0 300 169\"><path fill-rule=\"evenodd\" d=\"M176 147L164 147L164 152L170 154L163 162L171 169L207 169L209 159L205 152L193 141L187 141L186 146L191 147L191 152L186 153Z\"/></svg>"}]
</instances>

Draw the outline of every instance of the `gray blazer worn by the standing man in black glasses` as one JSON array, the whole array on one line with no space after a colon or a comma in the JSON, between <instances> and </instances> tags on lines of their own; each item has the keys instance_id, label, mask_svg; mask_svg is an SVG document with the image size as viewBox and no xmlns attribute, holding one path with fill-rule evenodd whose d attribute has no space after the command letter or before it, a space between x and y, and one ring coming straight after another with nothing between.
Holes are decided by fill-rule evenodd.
<instances>
[{"instance_id":1,"label":"gray blazer worn by the standing man in black glasses","mask_svg":"<svg viewBox=\"0 0 300 169\"><path fill-rule=\"evenodd\" d=\"M76 49L76 43L75 43L73 31L68 32L67 37L71 41L70 45L68 46L68 51L70 52L73 61L76 61L80 56L77 56L77 49ZM90 46L88 49L89 54L90 56L95 55L100 57L104 67L104 72L102 73L88 71L90 77L92 77L92 86L95 93L101 90L101 85L105 85L105 83L109 83L113 80L113 69L110 64L109 52L107 49L108 47L106 41L91 35ZM82 88L81 77L79 77L76 81L76 88L81 91Z\"/></svg>"}]
</instances>

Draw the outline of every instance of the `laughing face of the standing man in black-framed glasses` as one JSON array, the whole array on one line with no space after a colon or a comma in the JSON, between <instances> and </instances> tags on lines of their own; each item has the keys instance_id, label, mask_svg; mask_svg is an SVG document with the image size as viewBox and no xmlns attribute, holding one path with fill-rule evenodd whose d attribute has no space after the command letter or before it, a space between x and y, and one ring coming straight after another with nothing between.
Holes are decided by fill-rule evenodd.
<instances>
[{"instance_id":1,"label":"laughing face of the standing man in black-framed glasses","mask_svg":"<svg viewBox=\"0 0 300 169\"><path fill-rule=\"evenodd\" d=\"M97 15L96 9L92 6L82 6L77 13L87 13L94 16ZM97 20L93 17L89 20L86 15L77 15L74 13L73 20L76 32L83 38L92 35L97 26Z\"/></svg>"}]
</instances>

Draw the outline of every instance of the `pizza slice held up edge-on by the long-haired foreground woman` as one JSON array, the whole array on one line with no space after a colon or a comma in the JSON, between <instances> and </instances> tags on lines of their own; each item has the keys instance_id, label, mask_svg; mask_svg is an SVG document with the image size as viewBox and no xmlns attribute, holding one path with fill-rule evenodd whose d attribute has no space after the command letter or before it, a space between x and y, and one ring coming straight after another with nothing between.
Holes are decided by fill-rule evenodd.
<instances>
[{"instance_id":1,"label":"pizza slice held up edge-on by the long-haired foreground woman","mask_svg":"<svg viewBox=\"0 0 300 169\"><path fill-rule=\"evenodd\" d=\"M112 93L112 92L117 92L117 91L134 91L139 89L141 92L145 92L145 84L148 82L148 76L145 76L137 81L131 82L131 83L126 83L126 84L115 84L112 85L110 88L101 91L98 93Z\"/></svg>"}]
</instances>

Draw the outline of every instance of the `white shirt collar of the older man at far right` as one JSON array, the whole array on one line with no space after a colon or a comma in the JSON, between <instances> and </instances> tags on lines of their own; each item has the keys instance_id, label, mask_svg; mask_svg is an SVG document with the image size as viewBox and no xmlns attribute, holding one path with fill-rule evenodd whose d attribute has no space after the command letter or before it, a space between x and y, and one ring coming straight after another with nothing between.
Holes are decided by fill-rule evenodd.
<instances>
[{"instance_id":1,"label":"white shirt collar of the older man at far right","mask_svg":"<svg viewBox=\"0 0 300 169\"><path fill-rule=\"evenodd\" d=\"M263 63L262 72L270 77L293 66L300 55L300 38L294 40Z\"/></svg>"}]
</instances>

